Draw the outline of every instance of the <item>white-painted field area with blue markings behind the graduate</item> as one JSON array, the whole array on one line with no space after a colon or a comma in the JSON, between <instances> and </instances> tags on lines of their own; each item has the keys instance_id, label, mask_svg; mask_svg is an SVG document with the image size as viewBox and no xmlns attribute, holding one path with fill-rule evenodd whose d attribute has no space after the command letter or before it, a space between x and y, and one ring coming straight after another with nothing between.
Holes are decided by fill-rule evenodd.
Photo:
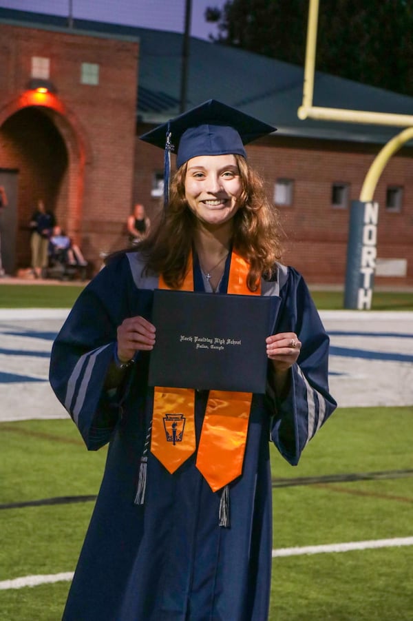
<instances>
[{"instance_id":1,"label":"white-painted field area with blue markings behind the graduate","mask_svg":"<svg viewBox=\"0 0 413 621\"><path fill-rule=\"evenodd\" d=\"M67 309L0 309L0 420L66 418L47 380ZM326 311L339 407L413 405L413 312Z\"/></svg>"}]
</instances>

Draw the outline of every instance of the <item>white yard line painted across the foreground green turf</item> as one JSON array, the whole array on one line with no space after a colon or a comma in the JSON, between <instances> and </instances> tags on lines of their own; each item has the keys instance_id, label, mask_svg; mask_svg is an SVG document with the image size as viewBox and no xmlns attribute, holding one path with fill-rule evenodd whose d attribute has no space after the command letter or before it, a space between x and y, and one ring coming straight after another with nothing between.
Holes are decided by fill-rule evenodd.
<instances>
[{"instance_id":1,"label":"white yard line painted across the foreground green turf","mask_svg":"<svg viewBox=\"0 0 413 621\"><path fill-rule=\"evenodd\" d=\"M303 548L279 548L273 550L273 558L279 556L299 556L301 554L321 554L330 552L349 552L352 550L367 550L374 548L391 548L413 545L413 537L396 537L394 539L376 539L370 541L350 541L348 543L332 543L319 546L306 546ZM37 587L39 584L50 582L67 582L72 580L73 572L50 573L46 576L23 576L13 580L0 582L0 591L6 589L23 589L23 587Z\"/></svg>"}]
</instances>

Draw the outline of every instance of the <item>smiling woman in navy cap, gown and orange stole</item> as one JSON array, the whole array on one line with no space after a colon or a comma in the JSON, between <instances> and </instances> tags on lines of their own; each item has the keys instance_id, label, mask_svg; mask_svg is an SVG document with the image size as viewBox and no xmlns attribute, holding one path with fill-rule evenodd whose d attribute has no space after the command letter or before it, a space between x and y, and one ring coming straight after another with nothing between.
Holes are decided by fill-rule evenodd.
<instances>
[{"instance_id":1,"label":"smiling woman in navy cap, gown and orange stole","mask_svg":"<svg viewBox=\"0 0 413 621\"><path fill-rule=\"evenodd\" d=\"M89 450L109 442L64 621L268 619L269 442L296 465L336 407L328 336L303 277L279 263L278 214L246 160L243 143L273 131L211 100L142 136L177 153L165 212L83 289L54 342L56 396ZM149 386L157 288L277 298L265 392L197 389L196 369L189 389ZM167 417L183 419L176 442Z\"/></svg>"}]
</instances>

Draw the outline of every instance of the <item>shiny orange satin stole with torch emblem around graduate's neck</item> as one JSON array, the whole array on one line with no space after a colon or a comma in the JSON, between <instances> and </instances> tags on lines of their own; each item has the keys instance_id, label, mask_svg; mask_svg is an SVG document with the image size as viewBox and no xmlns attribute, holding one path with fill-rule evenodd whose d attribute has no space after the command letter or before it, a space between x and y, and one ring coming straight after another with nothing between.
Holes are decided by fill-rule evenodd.
<instances>
[{"instance_id":1,"label":"shiny orange satin stole with torch emblem around graduate's neck","mask_svg":"<svg viewBox=\"0 0 413 621\"><path fill-rule=\"evenodd\" d=\"M249 265L236 252L231 254L228 294L260 295L259 285L251 292L246 285ZM159 288L169 289L162 278ZM189 257L181 291L193 291L193 260ZM196 467L213 491L242 474L253 395L248 392L210 390ZM151 452L173 473L196 449L195 390L155 387Z\"/></svg>"}]
</instances>

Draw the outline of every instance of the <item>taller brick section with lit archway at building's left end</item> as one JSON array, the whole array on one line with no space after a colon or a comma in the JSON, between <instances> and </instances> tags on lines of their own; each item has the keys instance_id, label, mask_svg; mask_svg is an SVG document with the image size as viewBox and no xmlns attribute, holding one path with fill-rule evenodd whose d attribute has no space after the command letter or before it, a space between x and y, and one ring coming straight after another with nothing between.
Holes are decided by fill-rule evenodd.
<instances>
[{"instance_id":1,"label":"taller brick section with lit archway at building's left end","mask_svg":"<svg viewBox=\"0 0 413 621\"><path fill-rule=\"evenodd\" d=\"M96 261L123 243L132 201L138 41L19 21L0 41L5 267L30 265L38 198Z\"/></svg>"}]
</instances>

